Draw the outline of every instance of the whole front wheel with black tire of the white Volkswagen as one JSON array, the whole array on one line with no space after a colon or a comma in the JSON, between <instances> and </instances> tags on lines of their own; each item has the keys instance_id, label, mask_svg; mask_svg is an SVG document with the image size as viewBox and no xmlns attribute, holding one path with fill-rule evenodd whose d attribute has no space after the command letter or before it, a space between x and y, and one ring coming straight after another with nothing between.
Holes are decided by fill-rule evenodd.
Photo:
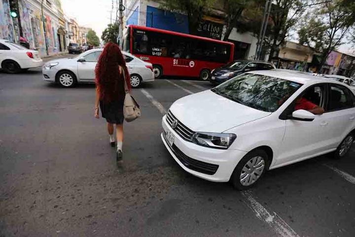
<instances>
[{"instance_id":1,"label":"whole front wheel with black tire of the white Volkswagen","mask_svg":"<svg viewBox=\"0 0 355 237\"><path fill-rule=\"evenodd\" d=\"M233 187L238 190L251 188L264 175L267 165L268 155L265 151L254 150L249 152L239 161L233 171L230 180Z\"/></svg>"}]
</instances>

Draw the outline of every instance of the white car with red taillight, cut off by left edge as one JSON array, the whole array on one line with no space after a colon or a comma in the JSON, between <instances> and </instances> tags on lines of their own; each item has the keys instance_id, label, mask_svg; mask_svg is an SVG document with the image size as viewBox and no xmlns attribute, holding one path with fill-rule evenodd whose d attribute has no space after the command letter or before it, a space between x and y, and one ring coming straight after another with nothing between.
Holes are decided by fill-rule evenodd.
<instances>
[{"instance_id":1,"label":"white car with red taillight, cut off by left edge","mask_svg":"<svg viewBox=\"0 0 355 237\"><path fill-rule=\"evenodd\" d=\"M0 68L7 73L18 73L21 70L43 65L38 51L25 48L8 40L0 40Z\"/></svg>"}]
</instances>

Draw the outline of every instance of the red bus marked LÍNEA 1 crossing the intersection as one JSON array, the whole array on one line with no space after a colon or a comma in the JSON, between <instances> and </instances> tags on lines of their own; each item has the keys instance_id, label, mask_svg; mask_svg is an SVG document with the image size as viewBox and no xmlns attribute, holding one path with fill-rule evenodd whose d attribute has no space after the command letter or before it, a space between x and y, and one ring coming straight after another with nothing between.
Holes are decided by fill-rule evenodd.
<instances>
[{"instance_id":1,"label":"red bus marked L\u00cdNEA 1 crossing the intersection","mask_svg":"<svg viewBox=\"0 0 355 237\"><path fill-rule=\"evenodd\" d=\"M233 60L234 44L150 27L129 25L122 49L153 64L155 78L209 79L211 71Z\"/></svg>"}]
</instances>

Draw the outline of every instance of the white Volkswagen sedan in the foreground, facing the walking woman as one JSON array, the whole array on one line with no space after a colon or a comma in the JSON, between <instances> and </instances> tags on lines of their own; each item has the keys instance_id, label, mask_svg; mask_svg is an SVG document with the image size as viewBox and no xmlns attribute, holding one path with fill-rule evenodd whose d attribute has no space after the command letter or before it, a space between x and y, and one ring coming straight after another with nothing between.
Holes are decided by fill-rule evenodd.
<instances>
[{"instance_id":1,"label":"white Volkswagen sedan in the foreground, facing the walking woman","mask_svg":"<svg viewBox=\"0 0 355 237\"><path fill-rule=\"evenodd\" d=\"M325 112L295 110L296 101ZM178 99L162 126L184 170L243 190L269 169L330 152L344 157L355 140L355 94L335 80L255 71Z\"/></svg>"}]
</instances>

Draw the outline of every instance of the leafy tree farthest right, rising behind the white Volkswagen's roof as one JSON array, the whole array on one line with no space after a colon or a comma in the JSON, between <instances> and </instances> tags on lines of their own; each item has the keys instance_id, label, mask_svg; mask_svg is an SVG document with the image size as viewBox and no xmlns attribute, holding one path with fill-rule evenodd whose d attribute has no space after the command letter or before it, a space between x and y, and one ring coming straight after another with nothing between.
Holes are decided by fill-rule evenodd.
<instances>
[{"instance_id":1,"label":"leafy tree farthest right, rising behind the white Volkswagen's roof","mask_svg":"<svg viewBox=\"0 0 355 237\"><path fill-rule=\"evenodd\" d=\"M310 13L310 18L298 31L300 43L314 46L320 52L318 71L321 71L329 53L343 43L344 36L355 23L352 7L344 2L333 0L321 4L313 14Z\"/></svg>"}]
</instances>

